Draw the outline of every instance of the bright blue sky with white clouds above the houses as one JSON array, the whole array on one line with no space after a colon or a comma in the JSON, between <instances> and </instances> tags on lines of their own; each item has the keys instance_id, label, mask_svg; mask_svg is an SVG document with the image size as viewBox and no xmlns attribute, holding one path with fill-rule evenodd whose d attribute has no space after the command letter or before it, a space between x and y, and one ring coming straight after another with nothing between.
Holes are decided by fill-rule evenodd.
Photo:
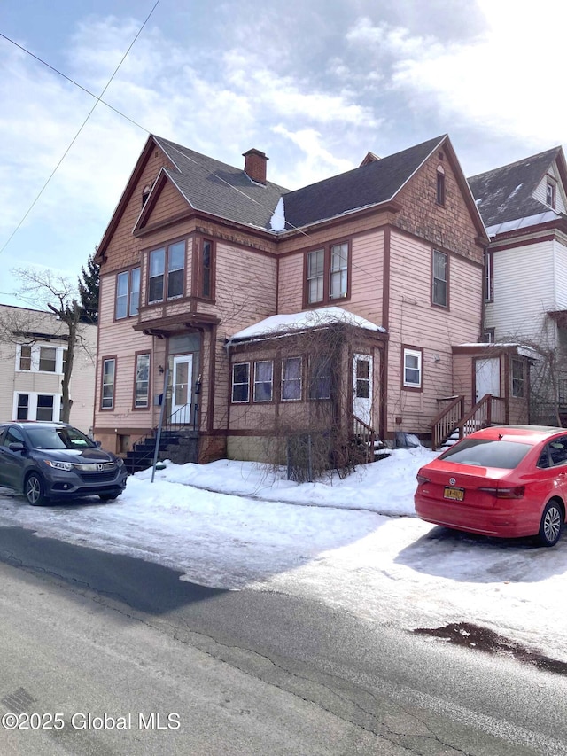
<instances>
[{"instance_id":1,"label":"bright blue sky with white clouds above the houses","mask_svg":"<svg viewBox=\"0 0 567 756\"><path fill-rule=\"evenodd\" d=\"M155 3L0 4L1 302L79 274L148 133L289 189L445 133L466 175L567 144L558 0Z\"/></svg>"}]
</instances>

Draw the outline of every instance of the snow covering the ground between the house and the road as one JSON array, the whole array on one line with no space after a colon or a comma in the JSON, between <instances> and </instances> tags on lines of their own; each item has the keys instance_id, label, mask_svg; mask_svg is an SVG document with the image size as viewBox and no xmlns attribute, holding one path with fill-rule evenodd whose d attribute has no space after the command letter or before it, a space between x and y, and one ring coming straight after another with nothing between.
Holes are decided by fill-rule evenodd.
<instances>
[{"instance_id":1,"label":"snow covering the ground between the house and the road","mask_svg":"<svg viewBox=\"0 0 567 756\"><path fill-rule=\"evenodd\" d=\"M115 502L30 507L3 491L0 525L24 526L178 570L214 588L306 596L411 629L477 622L567 660L567 533L458 534L415 517L417 469L434 454L397 449L344 480L298 485L284 471L221 460L136 473Z\"/></svg>"}]
</instances>

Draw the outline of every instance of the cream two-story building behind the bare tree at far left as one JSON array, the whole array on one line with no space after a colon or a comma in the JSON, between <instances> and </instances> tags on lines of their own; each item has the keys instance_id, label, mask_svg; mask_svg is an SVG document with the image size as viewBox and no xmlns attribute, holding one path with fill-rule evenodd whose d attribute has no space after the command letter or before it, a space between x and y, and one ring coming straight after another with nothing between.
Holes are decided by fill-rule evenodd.
<instances>
[{"instance_id":1,"label":"cream two-story building behind the bare tree at far left","mask_svg":"<svg viewBox=\"0 0 567 756\"><path fill-rule=\"evenodd\" d=\"M0 421L58 420L66 360L66 325L51 312L0 305ZM79 326L70 384L70 421L93 424L97 326Z\"/></svg>"}]
</instances>

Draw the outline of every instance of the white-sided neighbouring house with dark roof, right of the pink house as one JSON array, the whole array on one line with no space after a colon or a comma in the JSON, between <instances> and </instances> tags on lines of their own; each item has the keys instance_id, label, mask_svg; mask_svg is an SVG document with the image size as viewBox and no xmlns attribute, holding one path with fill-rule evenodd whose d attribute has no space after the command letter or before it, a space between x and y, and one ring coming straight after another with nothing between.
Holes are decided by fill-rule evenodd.
<instances>
[{"instance_id":1,"label":"white-sided neighbouring house with dark roof, right of the pink house","mask_svg":"<svg viewBox=\"0 0 567 756\"><path fill-rule=\"evenodd\" d=\"M567 423L567 163L562 147L469 179L490 237L485 340L516 341L540 357L531 371L532 422ZM512 363L511 383L524 376ZM517 372L517 375L516 375ZM521 389L523 390L523 389Z\"/></svg>"}]
</instances>

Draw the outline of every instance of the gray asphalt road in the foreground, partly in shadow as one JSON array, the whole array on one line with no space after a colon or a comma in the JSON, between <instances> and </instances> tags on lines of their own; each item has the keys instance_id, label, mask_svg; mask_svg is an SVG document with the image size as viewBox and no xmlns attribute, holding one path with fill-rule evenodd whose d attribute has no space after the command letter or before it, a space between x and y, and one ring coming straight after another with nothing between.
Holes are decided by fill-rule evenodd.
<instances>
[{"instance_id":1,"label":"gray asphalt road in the foreground, partly in shadow","mask_svg":"<svg viewBox=\"0 0 567 756\"><path fill-rule=\"evenodd\" d=\"M180 574L0 528L3 756L567 754L563 674Z\"/></svg>"}]
</instances>

